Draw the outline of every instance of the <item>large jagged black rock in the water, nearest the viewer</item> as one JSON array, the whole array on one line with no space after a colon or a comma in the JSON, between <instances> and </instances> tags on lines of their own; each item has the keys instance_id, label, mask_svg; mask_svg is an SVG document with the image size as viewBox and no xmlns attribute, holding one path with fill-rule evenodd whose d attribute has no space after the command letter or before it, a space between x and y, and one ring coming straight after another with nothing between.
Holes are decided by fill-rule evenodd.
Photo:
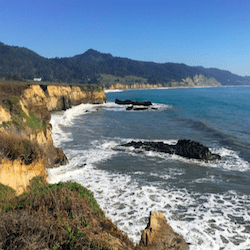
<instances>
[{"instance_id":1,"label":"large jagged black rock in the water, nearest the viewer","mask_svg":"<svg viewBox=\"0 0 250 250\"><path fill-rule=\"evenodd\" d=\"M141 148L146 151L163 152L167 154L177 154L186 158L199 160L220 160L220 155L212 154L208 147L199 142L191 140L179 140L176 145L169 145L163 142L129 142L123 144L124 147Z\"/></svg>"}]
</instances>

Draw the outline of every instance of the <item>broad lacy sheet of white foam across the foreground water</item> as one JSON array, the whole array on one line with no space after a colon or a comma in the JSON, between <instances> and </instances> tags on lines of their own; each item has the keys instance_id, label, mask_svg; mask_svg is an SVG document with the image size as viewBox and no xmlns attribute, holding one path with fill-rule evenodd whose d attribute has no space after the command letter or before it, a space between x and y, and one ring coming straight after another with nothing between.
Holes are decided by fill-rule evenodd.
<instances>
[{"instance_id":1,"label":"broad lacy sheet of white foam across the foreground water","mask_svg":"<svg viewBox=\"0 0 250 250\"><path fill-rule=\"evenodd\" d=\"M79 153L78 153L79 154ZM92 164L72 169L70 164L49 170L50 183L76 181L94 192L107 217L111 218L135 242L147 224L150 211L163 212L174 230L189 242L190 249L245 249L249 234L244 232L250 221L247 196L193 194L185 189L162 190L140 186L129 175L114 174L97 169ZM72 162L72 163L71 163ZM71 169L71 171L69 171ZM242 213L242 210L245 212ZM220 212L223 211L223 212Z\"/></svg>"}]
</instances>

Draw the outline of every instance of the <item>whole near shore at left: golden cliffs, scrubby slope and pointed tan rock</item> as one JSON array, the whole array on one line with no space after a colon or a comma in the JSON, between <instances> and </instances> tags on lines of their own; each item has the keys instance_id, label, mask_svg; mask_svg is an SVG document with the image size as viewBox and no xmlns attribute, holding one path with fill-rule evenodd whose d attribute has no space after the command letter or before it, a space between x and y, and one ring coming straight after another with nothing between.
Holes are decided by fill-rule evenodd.
<instances>
[{"instance_id":1,"label":"whole near shore at left: golden cliffs, scrubby slope and pointed tan rock","mask_svg":"<svg viewBox=\"0 0 250 250\"><path fill-rule=\"evenodd\" d=\"M151 212L134 245L74 182L49 184L67 162L53 145L50 112L103 103L96 87L0 83L0 249L189 249L163 214Z\"/></svg>"}]
</instances>

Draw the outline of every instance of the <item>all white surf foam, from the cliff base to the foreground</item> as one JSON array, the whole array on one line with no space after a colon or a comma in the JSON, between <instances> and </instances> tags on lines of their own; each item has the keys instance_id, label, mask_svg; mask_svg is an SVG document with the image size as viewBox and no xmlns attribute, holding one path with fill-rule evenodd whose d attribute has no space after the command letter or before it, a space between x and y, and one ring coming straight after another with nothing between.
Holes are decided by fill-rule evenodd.
<instances>
[{"instance_id":1,"label":"all white surf foam, from the cliff base to the foreground","mask_svg":"<svg viewBox=\"0 0 250 250\"><path fill-rule=\"evenodd\" d=\"M105 104L106 108L114 106ZM110 106L109 106L110 105ZM61 125L68 126L78 115L86 110L71 109L68 113L60 112L52 115L53 139L56 145L62 145L71 140L71 133L65 134ZM90 107L89 107L90 109ZM94 111L94 108L93 108ZM73 114L72 114L73 113ZM107 217L117 223L131 239L138 242L141 231L146 227L150 211L163 212L173 229L184 236L190 243L191 250L228 249L242 250L250 248L250 196L240 195L235 191L225 194L200 194L188 192L185 188L165 189L148 183L139 184L128 174L115 173L98 169L97 163L107 161L119 154L119 145L131 139L105 138L93 141L91 148L64 149L69 164L55 169L48 169L49 182L76 181L94 192L95 198ZM136 140L135 140L136 141ZM138 140L137 140L138 141ZM143 141L143 140L142 140ZM165 143L175 144L177 140L166 140ZM206 167L217 167L237 171L249 170L236 152L228 149L212 149L222 155L221 163L201 163L176 155L151 152L151 157L159 157L164 161L186 161L192 164L203 164ZM133 147L124 149L123 153L135 154ZM149 152L138 154L138 157L148 156ZM240 169L234 164L244 163ZM163 180L178 178L184 170L169 168L162 175L152 176ZM135 175L143 175L137 171ZM213 181L214 177L197 179L199 183Z\"/></svg>"}]
</instances>

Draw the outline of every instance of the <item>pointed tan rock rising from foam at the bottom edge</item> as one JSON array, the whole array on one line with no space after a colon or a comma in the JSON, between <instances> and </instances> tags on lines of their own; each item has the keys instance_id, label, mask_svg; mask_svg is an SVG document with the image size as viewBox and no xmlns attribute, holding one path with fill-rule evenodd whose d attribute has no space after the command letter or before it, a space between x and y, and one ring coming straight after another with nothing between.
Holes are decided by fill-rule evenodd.
<instances>
[{"instance_id":1,"label":"pointed tan rock rising from foam at the bottom edge","mask_svg":"<svg viewBox=\"0 0 250 250\"><path fill-rule=\"evenodd\" d=\"M188 250L183 237L175 233L162 213L151 212L149 223L143 230L140 246L142 250Z\"/></svg>"}]
</instances>

